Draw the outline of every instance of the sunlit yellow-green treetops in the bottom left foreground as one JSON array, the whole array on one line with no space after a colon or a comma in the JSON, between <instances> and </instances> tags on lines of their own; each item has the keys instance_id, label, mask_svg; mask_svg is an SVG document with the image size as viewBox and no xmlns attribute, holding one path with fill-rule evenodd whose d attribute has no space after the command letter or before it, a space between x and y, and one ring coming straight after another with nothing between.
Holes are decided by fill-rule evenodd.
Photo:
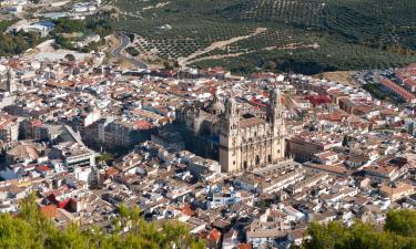
<instances>
[{"instance_id":1,"label":"sunlit yellow-green treetops in the bottom left foreground","mask_svg":"<svg viewBox=\"0 0 416 249\"><path fill-rule=\"evenodd\" d=\"M59 229L39 211L34 195L24 199L17 216L0 215L0 248L203 248L190 237L187 229L175 222L156 226L140 217L136 209L121 206L115 229L81 230L75 224ZM130 228L124 232L124 228Z\"/></svg>"}]
</instances>

